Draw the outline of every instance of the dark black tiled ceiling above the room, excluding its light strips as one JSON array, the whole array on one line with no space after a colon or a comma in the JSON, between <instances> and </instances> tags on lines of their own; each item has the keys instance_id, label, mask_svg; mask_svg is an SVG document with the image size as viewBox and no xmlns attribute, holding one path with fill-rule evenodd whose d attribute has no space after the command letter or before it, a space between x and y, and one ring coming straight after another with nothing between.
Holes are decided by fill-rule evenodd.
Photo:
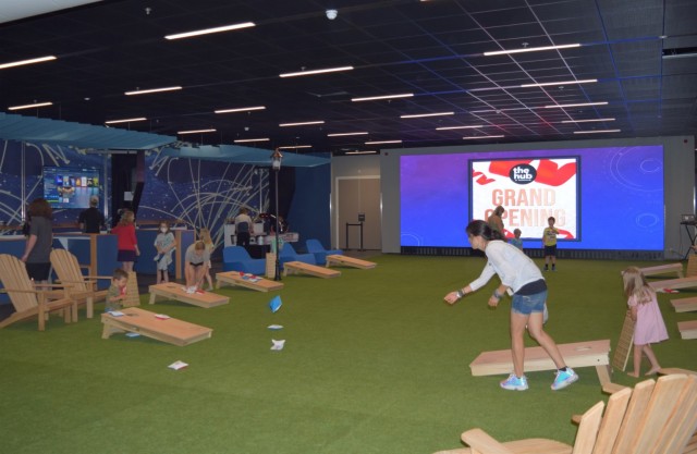
<instances>
[{"instance_id":1,"label":"dark black tiled ceiling above the room, excluding its light strips","mask_svg":"<svg viewBox=\"0 0 697 454\"><path fill-rule=\"evenodd\" d=\"M207 145L269 138L243 145L342 155L697 132L696 0L120 0L0 24L0 63L46 54L58 59L0 70L0 108L51 101L14 113L90 124L144 116L113 127L163 135L215 128L179 135ZM522 87L540 83L553 84ZM169 86L182 89L124 95ZM413 97L352 101L395 94ZM576 103L599 105L548 107ZM308 121L325 123L280 126ZM449 126L478 127L437 130ZM365 144L376 140L402 143Z\"/></svg>"}]
</instances>

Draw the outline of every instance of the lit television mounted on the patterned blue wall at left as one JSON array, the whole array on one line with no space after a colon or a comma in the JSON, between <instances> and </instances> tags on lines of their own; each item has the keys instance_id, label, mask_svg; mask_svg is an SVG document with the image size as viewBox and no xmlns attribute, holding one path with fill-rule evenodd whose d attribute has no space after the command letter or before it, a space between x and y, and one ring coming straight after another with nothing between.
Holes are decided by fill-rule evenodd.
<instances>
[{"instance_id":1,"label":"lit television mounted on the patterned blue wall at left","mask_svg":"<svg viewBox=\"0 0 697 454\"><path fill-rule=\"evenodd\" d=\"M52 208L89 208L101 196L101 170L85 167L44 167L44 198Z\"/></svg>"}]
</instances>

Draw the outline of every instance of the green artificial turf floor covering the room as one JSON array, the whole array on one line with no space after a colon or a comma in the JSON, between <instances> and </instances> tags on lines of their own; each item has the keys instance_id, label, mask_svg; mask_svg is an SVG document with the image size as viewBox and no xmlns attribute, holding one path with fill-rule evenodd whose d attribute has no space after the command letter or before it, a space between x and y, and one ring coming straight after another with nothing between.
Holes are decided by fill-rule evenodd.
<instances>
[{"instance_id":1,"label":"green artificial turf floor covering the room","mask_svg":"<svg viewBox=\"0 0 697 454\"><path fill-rule=\"evenodd\" d=\"M371 259L377 268L341 268L337 279L288 277L280 293L223 287L230 304L211 309L149 306L142 295L144 309L213 329L185 347L102 340L99 316L87 320L84 310L78 323L52 317L45 332L35 321L0 330L1 451L432 453L462 446L460 433L473 427L501 441L572 443L571 416L607 400L595 368L577 369L580 380L558 392L551 371L528 373L526 392L501 390L501 376L472 377L480 352L509 348L510 298L488 309L496 278L455 306L442 297L476 278L482 258ZM620 271L628 265L657 263L559 260L546 273L547 330L558 343L616 345L626 304ZM272 314L277 294L283 306ZM655 352L663 367L697 369L697 341L681 340L676 327L697 315L675 314L671 297L659 296L671 339ZM273 323L284 328L267 329ZM271 339L285 348L270 351ZM175 360L189 366L169 369ZM615 371L613 381L637 380Z\"/></svg>"}]
</instances>

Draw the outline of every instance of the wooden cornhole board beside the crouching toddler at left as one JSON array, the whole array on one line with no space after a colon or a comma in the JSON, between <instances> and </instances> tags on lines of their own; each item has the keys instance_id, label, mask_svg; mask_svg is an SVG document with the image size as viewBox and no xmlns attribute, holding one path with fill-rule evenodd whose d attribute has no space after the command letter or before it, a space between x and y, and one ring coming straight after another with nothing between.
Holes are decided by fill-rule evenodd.
<instances>
[{"instance_id":1,"label":"wooden cornhole board beside the crouching toddler at left","mask_svg":"<svg viewBox=\"0 0 697 454\"><path fill-rule=\"evenodd\" d=\"M114 317L109 312L101 315L101 322L105 326L101 339L109 339L111 334L115 333L133 332L169 344L184 346L209 339L213 332L210 328L175 318L162 320L156 318L155 312L138 307L129 307L121 311L124 315L120 317Z\"/></svg>"}]
</instances>

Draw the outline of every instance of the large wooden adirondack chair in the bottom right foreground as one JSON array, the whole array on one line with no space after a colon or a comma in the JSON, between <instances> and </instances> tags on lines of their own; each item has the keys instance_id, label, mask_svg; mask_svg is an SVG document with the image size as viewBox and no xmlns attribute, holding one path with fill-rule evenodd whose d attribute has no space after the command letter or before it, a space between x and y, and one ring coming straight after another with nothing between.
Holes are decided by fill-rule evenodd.
<instances>
[{"instance_id":1,"label":"large wooden adirondack chair in the bottom right foreground","mask_svg":"<svg viewBox=\"0 0 697 454\"><path fill-rule=\"evenodd\" d=\"M547 439L500 443L481 429L470 447L438 454L682 454L697 428L697 376L670 375L612 394L580 417L573 446Z\"/></svg>"}]
</instances>

